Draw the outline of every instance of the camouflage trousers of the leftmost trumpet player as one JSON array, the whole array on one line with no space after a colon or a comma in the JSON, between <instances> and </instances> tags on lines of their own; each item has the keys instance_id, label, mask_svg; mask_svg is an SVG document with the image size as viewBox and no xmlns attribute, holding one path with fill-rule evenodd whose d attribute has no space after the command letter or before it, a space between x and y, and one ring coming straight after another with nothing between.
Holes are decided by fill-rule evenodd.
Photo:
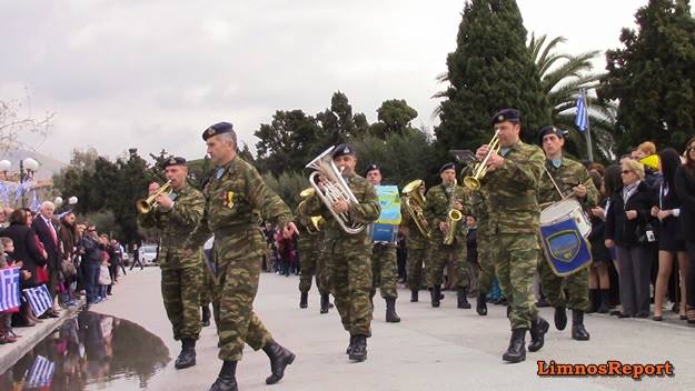
<instances>
[{"instance_id":1,"label":"camouflage trousers of the leftmost trumpet player","mask_svg":"<svg viewBox=\"0 0 695 391\"><path fill-rule=\"evenodd\" d=\"M200 268L161 269L161 297L173 339L198 339L200 333Z\"/></svg>"}]
</instances>

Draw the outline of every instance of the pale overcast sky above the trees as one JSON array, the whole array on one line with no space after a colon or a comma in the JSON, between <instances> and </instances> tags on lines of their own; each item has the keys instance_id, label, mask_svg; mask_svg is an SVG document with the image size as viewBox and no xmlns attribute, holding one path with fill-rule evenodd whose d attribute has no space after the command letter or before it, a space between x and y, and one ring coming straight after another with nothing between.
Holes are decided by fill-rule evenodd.
<instances>
[{"instance_id":1,"label":"pale overcast sky above the trees","mask_svg":"<svg viewBox=\"0 0 695 391\"><path fill-rule=\"evenodd\" d=\"M646 2L518 4L529 33L564 36L579 53L618 47ZM200 158L200 133L222 120L252 148L276 110L315 114L337 90L370 122L384 100L405 99L431 129L464 3L0 0L0 99L29 91L34 117L56 112L48 139L29 141L66 162L87 147Z\"/></svg>"}]
</instances>

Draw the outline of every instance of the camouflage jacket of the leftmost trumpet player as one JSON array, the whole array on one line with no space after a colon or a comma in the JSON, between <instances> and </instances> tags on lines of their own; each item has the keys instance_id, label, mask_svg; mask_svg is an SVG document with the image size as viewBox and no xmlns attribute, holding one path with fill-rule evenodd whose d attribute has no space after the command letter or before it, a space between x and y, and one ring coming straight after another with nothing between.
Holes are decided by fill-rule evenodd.
<instances>
[{"instance_id":1,"label":"camouflage jacket of the leftmost trumpet player","mask_svg":"<svg viewBox=\"0 0 695 391\"><path fill-rule=\"evenodd\" d=\"M183 255L183 242L190 232L198 225L205 209L205 199L200 191L186 184L178 192L171 193L173 208L166 210L157 208L147 214L138 214L138 223L142 228L157 228L160 233L159 267L177 269L200 267L198 254Z\"/></svg>"}]
</instances>

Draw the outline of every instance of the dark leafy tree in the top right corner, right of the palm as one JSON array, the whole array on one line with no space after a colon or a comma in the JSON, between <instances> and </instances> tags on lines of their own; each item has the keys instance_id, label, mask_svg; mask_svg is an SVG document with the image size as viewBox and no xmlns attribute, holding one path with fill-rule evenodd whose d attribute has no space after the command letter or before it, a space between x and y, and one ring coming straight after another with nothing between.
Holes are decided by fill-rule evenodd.
<instances>
[{"instance_id":1,"label":"dark leafy tree in the top right corner, right of the palm","mask_svg":"<svg viewBox=\"0 0 695 391\"><path fill-rule=\"evenodd\" d=\"M606 52L599 97L619 102L622 151L646 140L682 149L695 133L695 19L685 0L649 0L635 19Z\"/></svg>"}]
</instances>

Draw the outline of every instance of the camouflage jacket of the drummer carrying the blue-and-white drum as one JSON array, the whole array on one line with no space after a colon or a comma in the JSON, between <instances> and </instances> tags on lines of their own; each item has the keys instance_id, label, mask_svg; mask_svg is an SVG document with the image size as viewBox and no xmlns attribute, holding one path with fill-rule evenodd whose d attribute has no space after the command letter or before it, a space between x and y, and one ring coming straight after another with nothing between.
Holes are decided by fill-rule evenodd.
<instances>
[{"instance_id":1,"label":"camouflage jacket of the drummer carrying the blue-and-white drum","mask_svg":"<svg viewBox=\"0 0 695 391\"><path fill-rule=\"evenodd\" d=\"M572 194L572 189L580 183L586 187L586 196L578 201L582 202L584 207L588 208L597 204L598 190L594 186L594 181L592 177L589 177L588 171L582 163L563 158L559 168L556 169L549 160L546 160L545 168L553 176L555 183L557 183L563 194ZM543 171L540 183L538 184L538 203L545 204L547 202L559 201L560 199L553 181L548 178L548 174Z\"/></svg>"}]
</instances>

